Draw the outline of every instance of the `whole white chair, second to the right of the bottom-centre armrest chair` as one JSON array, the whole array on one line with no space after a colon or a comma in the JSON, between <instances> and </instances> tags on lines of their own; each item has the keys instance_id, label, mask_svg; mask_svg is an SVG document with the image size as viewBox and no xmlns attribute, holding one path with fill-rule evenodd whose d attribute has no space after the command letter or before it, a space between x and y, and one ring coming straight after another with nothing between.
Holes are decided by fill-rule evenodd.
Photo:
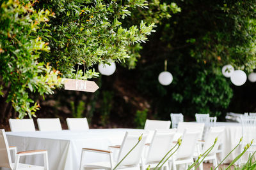
<instances>
[{"instance_id":1,"label":"whole white chair, second to the right of the bottom-centre armrest chair","mask_svg":"<svg viewBox=\"0 0 256 170\"><path fill-rule=\"evenodd\" d=\"M185 164L186 168L193 164L193 154L196 149L196 141L200 136L200 131L191 131L186 129L182 135L182 142L171 160L169 161L170 169L176 170L177 165Z\"/></svg>"}]
</instances>

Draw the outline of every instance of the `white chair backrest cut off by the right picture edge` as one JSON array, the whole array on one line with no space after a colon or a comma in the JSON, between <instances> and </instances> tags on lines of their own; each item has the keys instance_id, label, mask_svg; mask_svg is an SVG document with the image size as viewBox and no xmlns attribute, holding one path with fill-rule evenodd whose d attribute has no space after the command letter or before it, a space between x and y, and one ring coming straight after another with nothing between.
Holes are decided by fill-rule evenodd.
<instances>
[{"instance_id":1,"label":"white chair backrest cut off by the right picture edge","mask_svg":"<svg viewBox=\"0 0 256 170\"><path fill-rule=\"evenodd\" d=\"M242 144L250 143L252 139L256 139L256 117L242 115L240 117L242 124L243 141Z\"/></svg>"}]
</instances>

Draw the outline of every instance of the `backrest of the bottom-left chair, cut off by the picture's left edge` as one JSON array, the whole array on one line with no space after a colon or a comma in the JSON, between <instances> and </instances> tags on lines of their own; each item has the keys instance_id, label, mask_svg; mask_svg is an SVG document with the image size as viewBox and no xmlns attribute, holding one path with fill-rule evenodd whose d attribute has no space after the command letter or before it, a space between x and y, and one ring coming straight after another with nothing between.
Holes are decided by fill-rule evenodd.
<instances>
[{"instance_id":1,"label":"backrest of the bottom-left chair, cut off by the picture's left edge","mask_svg":"<svg viewBox=\"0 0 256 170\"><path fill-rule=\"evenodd\" d=\"M4 129L0 129L0 167L12 169L12 159Z\"/></svg>"}]
</instances>

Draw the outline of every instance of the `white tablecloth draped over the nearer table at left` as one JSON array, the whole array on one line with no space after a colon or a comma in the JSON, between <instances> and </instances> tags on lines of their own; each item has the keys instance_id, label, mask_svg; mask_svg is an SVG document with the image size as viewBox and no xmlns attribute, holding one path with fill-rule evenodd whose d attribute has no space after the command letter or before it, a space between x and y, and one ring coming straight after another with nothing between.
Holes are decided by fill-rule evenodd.
<instances>
[{"instance_id":1,"label":"white tablecloth draped over the nearer table at left","mask_svg":"<svg viewBox=\"0 0 256 170\"><path fill-rule=\"evenodd\" d=\"M88 131L58 131L58 132L6 132L10 146L17 146L17 151L40 150L48 151L50 170L77 170L81 160L82 148L97 148L107 150L109 145L120 145L126 131L142 131L138 129L90 129ZM88 153L88 162L106 160ZM43 165L41 155L28 156L21 162Z\"/></svg>"}]
</instances>

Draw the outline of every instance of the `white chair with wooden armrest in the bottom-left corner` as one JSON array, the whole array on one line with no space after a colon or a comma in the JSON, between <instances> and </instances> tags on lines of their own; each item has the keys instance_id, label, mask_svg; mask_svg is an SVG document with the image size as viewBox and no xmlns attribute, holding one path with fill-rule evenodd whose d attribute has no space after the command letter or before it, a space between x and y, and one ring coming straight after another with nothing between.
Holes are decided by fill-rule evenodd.
<instances>
[{"instance_id":1,"label":"white chair with wooden armrest in the bottom-left corner","mask_svg":"<svg viewBox=\"0 0 256 170\"><path fill-rule=\"evenodd\" d=\"M34 166L29 164L21 164L19 163L20 157L27 156L27 155L44 155L44 167L42 166ZM10 168L12 170L21 170L21 169L38 169L38 170L48 170L48 157L47 157L47 150L30 150L25 152L18 152L15 153L15 163L12 163L11 155L10 155L10 148L7 142L6 134L4 129L0 129L0 167Z\"/></svg>"}]
</instances>

